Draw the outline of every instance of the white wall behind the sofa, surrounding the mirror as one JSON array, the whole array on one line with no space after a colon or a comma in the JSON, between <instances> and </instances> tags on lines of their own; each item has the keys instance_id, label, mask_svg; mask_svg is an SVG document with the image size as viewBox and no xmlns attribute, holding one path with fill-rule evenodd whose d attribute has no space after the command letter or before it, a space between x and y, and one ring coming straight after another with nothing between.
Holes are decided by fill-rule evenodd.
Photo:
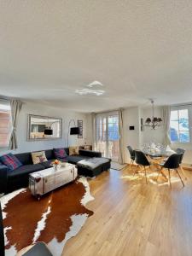
<instances>
[{"instance_id":1,"label":"white wall behind the sofa, surrounding the mirror","mask_svg":"<svg viewBox=\"0 0 192 256\"><path fill-rule=\"evenodd\" d=\"M62 119L62 137L61 139L55 140L47 140L47 141L38 141L38 142L28 142L27 137L27 115L29 113L44 115L49 117L58 117ZM15 150L16 153L20 152L27 152L33 150L41 150L41 149L48 149L48 148L58 148L58 147L65 147L67 146L67 130L68 130L68 123L70 119L75 119L76 124L78 119L83 120L83 127L84 127L84 135L83 139L78 138L78 136L70 136L69 135L69 145L82 145L84 144L84 137L90 140L90 135L86 135L86 114L84 113L75 113L70 112L67 109L63 108L52 108L49 106L26 102L22 110L20 111L20 117L18 121L17 127L17 139L19 148ZM1 154L7 153L7 150L2 150Z\"/></svg>"}]
</instances>

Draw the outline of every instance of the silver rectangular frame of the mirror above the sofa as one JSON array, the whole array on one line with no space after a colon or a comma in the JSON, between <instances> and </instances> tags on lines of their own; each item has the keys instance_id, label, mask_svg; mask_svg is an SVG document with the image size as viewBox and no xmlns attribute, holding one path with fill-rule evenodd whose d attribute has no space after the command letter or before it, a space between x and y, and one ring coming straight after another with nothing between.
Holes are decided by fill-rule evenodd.
<instances>
[{"instance_id":1,"label":"silver rectangular frame of the mirror above the sofa","mask_svg":"<svg viewBox=\"0 0 192 256\"><path fill-rule=\"evenodd\" d=\"M31 120L32 117L39 118L39 119L58 119L60 121L60 136L59 137L40 137L40 138L31 138ZM49 117L44 115L37 115L37 114L28 114L28 122L27 122L27 141L29 142L37 142L37 141L49 141L49 140L58 140L62 138L62 119L61 118L55 118L55 117Z\"/></svg>"}]
</instances>

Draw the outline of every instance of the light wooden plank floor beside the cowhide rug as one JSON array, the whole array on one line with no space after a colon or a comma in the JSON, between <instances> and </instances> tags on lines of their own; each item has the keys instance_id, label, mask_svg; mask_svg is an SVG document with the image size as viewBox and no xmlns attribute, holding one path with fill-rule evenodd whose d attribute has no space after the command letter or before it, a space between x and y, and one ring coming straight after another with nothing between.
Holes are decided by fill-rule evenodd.
<instances>
[{"instance_id":1,"label":"light wooden plank floor beside the cowhide rug","mask_svg":"<svg viewBox=\"0 0 192 256\"><path fill-rule=\"evenodd\" d=\"M156 172L132 176L123 171L103 172L90 180L94 212L79 234L69 241L63 256L192 255L192 172L183 188L177 176L172 189Z\"/></svg>"}]
</instances>

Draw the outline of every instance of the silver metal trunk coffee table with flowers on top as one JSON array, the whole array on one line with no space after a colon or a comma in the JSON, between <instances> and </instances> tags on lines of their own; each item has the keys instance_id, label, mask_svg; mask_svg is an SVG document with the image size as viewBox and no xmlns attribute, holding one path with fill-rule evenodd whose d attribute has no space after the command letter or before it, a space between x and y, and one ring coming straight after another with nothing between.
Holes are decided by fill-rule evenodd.
<instances>
[{"instance_id":1,"label":"silver metal trunk coffee table with flowers on top","mask_svg":"<svg viewBox=\"0 0 192 256\"><path fill-rule=\"evenodd\" d=\"M40 200L40 197L54 189L75 180L78 176L76 166L66 163L55 171L54 167L29 175L29 189L32 195Z\"/></svg>"}]
</instances>

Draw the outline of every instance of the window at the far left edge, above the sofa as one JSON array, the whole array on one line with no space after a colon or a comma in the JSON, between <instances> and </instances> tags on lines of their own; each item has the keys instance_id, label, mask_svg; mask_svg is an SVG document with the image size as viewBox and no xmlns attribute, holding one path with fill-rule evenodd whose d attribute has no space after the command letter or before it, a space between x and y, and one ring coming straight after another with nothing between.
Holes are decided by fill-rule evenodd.
<instances>
[{"instance_id":1,"label":"window at the far left edge, above the sofa","mask_svg":"<svg viewBox=\"0 0 192 256\"><path fill-rule=\"evenodd\" d=\"M0 148L9 145L10 136L10 106L9 102L0 100Z\"/></svg>"}]
</instances>

